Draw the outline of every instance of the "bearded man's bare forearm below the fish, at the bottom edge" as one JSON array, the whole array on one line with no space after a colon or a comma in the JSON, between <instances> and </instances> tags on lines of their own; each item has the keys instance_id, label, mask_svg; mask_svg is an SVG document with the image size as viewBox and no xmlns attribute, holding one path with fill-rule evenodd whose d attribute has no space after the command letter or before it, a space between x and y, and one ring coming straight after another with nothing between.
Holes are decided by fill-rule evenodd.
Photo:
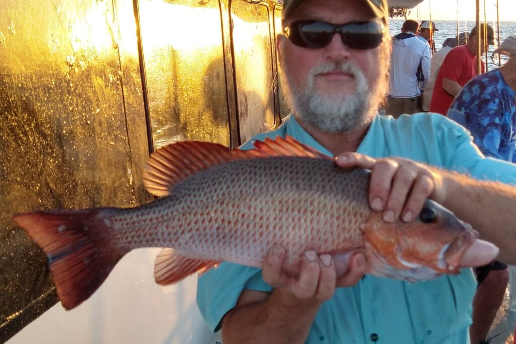
<instances>
[{"instance_id":1,"label":"bearded man's bare forearm below the fish, at the bottom edge","mask_svg":"<svg viewBox=\"0 0 516 344\"><path fill-rule=\"evenodd\" d=\"M261 302L237 306L222 322L222 341L234 343L303 344L320 303L294 300L281 289Z\"/></svg>"}]
</instances>

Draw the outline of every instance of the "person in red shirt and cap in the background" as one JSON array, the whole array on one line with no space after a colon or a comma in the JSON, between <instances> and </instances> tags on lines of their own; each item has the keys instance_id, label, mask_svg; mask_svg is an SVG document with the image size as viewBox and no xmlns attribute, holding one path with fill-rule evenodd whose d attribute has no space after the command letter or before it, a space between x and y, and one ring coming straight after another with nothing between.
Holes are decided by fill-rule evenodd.
<instances>
[{"instance_id":1,"label":"person in red shirt and cap in the background","mask_svg":"<svg viewBox=\"0 0 516 344\"><path fill-rule=\"evenodd\" d=\"M494 44L494 30L489 24L480 24L479 31L481 52L484 54L486 49L484 37L487 37L487 44ZM467 43L453 48L444 59L437 74L430 112L437 112L446 116L455 96L459 94L467 81L477 75L477 36L477 27L475 26L470 32ZM482 63L482 73L483 71Z\"/></svg>"}]
</instances>

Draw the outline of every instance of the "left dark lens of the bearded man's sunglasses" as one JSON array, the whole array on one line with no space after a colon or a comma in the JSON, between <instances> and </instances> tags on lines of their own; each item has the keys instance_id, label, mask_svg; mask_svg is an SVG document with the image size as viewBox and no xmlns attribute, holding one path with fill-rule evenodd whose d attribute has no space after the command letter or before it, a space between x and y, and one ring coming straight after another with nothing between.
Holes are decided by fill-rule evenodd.
<instances>
[{"instance_id":1,"label":"left dark lens of the bearded man's sunglasses","mask_svg":"<svg viewBox=\"0 0 516 344\"><path fill-rule=\"evenodd\" d=\"M333 35L334 27L320 21L298 21L291 25L290 40L305 48L322 48Z\"/></svg>"}]
</instances>

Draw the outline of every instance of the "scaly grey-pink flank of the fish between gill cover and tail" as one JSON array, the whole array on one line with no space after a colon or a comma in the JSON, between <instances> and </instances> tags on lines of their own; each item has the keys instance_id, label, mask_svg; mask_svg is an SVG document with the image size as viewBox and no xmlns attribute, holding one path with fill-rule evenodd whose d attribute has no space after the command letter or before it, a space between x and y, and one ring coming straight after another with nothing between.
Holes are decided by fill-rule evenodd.
<instances>
[{"instance_id":1,"label":"scaly grey-pink flank of the fish between gill cover and tail","mask_svg":"<svg viewBox=\"0 0 516 344\"><path fill-rule=\"evenodd\" d=\"M124 209L133 214L111 220L127 232L121 238L124 247L158 244L190 257L251 266L260 266L273 243L291 248L291 263L307 248L329 252L357 247L359 226L371 212L368 173L332 166L331 160L304 157L232 161L186 178L171 189L172 196L151 203L150 212ZM136 240L134 232L145 235Z\"/></svg>"}]
</instances>

